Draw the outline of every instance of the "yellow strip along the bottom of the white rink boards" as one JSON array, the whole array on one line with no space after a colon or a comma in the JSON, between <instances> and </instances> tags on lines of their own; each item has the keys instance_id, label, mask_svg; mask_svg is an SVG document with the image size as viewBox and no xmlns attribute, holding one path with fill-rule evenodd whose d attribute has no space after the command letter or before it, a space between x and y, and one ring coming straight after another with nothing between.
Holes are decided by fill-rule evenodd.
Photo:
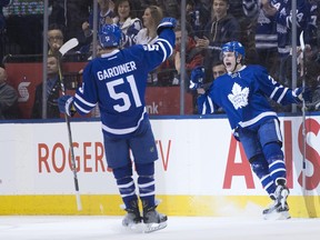
<instances>
[{"instance_id":1,"label":"yellow strip along the bottom of the white rink boards","mask_svg":"<svg viewBox=\"0 0 320 240\"><path fill-rule=\"evenodd\" d=\"M158 210L168 216L232 217L261 214L271 201L266 196L157 196ZM86 214L122 216L117 194L82 194L82 211L77 210L76 196L0 196L0 214ZM293 218L319 218L319 196L290 196Z\"/></svg>"}]
</instances>

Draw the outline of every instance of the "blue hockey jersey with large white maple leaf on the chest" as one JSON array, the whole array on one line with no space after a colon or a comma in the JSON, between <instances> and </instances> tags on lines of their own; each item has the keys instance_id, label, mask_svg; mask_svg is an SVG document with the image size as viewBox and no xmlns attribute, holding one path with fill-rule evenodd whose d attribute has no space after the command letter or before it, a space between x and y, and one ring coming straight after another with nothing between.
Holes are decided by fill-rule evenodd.
<instances>
[{"instance_id":1,"label":"blue hockey jersey with large white maple leaf on the chest","mask_svg":"<svg viewBox=\"0 0 320 240\"><path fill-rule=\"evenodd\" d=\"M278 118L267 98L278 103L298 103L292 90L279 84L261 66L243 66L238 72L217 78L208 92L198 98L199 113L226 111L231 129L254 128Z\"/></svg>"}]
</instances>

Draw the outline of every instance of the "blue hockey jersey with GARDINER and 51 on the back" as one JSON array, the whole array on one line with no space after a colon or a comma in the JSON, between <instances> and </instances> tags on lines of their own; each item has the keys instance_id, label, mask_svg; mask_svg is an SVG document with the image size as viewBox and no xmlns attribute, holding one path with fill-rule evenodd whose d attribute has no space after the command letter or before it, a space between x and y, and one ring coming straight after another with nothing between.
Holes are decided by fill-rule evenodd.
<instances>
[{"instance_id":1,"label":"blue hockey jersey with GARDINER and 51 on the back","mask_svg":"<svg viewBox=\"0 0 320 240\"><path fill-rule=\"evenodd\" d=\"M172 54L174 41L173 30L163 29L153 44L137 44L93 59L83 70L83 83L74 96L77 111L89 113L98 103L103 133L130 137L148 118L148 72Z\"/></svg>"}]
</instances>

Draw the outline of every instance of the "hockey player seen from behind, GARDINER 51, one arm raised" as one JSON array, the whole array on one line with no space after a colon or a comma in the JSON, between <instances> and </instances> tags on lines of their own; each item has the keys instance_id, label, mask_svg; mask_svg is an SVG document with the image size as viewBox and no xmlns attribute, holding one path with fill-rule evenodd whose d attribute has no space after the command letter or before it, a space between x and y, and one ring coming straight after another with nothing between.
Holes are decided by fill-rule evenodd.
<instances>
[{"instance_id":1,"label":"hockey player seen from behind, GARDINER 51, one arm raised","mask_svg":"<svg viewBox=\"0 0 320 240\"><path fill-rule=\"evenodd\" d=\"M60 111L68 116L72 116L74 110L86 114L99 104L107 163L112 169L128 212L122 224L137 228L137 223L143 222L147 232L164 228L167 216L156 210L153 174L158 152L146 110L144 91L148 72L173 52L176 36L172 29L176 22L173 18L163 18L157 29L159 38L153 44L136 44L122 50L119 49L119 27L104 24L99 34L103 53L86 67L82 87L76 96L59 99ZM142 217L130 151L138 174Z\"/></svg>"}]
</instances>

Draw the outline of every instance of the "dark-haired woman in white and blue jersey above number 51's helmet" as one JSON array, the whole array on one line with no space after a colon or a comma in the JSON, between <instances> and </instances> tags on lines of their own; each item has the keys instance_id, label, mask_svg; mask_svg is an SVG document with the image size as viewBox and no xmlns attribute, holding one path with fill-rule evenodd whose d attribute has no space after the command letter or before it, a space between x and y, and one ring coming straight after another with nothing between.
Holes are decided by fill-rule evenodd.
<instances>
[{"instance_id":1,"label":"dark-haired woman in white and blue jersey above number 51's helmet","mask_svg":"<svg viewBox=\"0 0 320 240\"><path fill-rule=\"evenodd\" d=\"M113 23L118 24L123 33L122 47L127 48L136 43L136 36L142 29L142 22L136 18L130 0L118 0L114 6L116 17Z\"/></svg>"}]
</instances>

